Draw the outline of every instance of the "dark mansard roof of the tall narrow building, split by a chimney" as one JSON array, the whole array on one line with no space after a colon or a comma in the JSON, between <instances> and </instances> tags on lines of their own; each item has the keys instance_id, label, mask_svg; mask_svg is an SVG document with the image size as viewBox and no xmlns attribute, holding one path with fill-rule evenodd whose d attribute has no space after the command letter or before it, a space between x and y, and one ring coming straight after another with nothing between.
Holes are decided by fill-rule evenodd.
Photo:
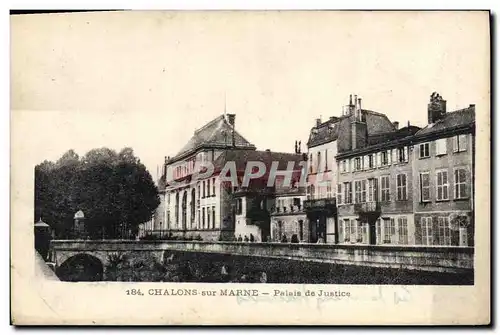
<instances>
[{"instance_id":1,"label":"dark mansard roof of the tall narrow building, split by a chimney","mask_svg":"<svg viewBox=\"0 0 500 335\"><path fill-rule=\"evenodd\" d=\"M392 122L385 114L377 113L371 110L362 109L361 113L366 122L368 136L393 132L395 130ZM311 129L308 147L314 147L335 141L339 136L350 136L349 126L354 115L343 115L339 118L332 117L329 120L321 123L317 127Z\"/></svg>"}]
</instances>

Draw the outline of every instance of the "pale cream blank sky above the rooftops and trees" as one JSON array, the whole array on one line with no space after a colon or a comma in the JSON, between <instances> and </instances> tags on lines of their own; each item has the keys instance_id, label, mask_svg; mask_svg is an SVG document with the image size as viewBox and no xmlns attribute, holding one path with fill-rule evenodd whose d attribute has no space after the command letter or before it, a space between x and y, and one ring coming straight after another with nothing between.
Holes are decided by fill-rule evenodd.
<instances>
[{"instance_id":1,"label":"pale cream blank sky above the rooftops and trees","mask_svg":"<svg viewBox=\"0 0 500 335\"><path fill-rule=\"evenodd\" d=\"M402 126L489 108L487 13L110 12L11 17L12 145L28 164L132 147L154 178L224 113L258 149L303 151L349 94ZM17 142L16 142L17 141Z\"/></svg>"}]
</instances>

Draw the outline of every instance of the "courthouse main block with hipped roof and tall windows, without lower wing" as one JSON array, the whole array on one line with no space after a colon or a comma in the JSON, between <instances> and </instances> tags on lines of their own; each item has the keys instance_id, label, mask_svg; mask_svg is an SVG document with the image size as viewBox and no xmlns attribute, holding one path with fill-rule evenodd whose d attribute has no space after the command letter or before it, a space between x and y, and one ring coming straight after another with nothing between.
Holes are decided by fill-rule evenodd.
<instances>
[{"instance_id":1,"label":"courthouse main block with hipped roof and tall windows, without lower wing","mask_svg":"<svg viewBox=\"0 0 500 335\"><path fill-rule=\"evenodd\" d=\"M166 158L152 234L209 241L232 238L232 189L219 174L228 152L256 150L236 131L235 118L234 114L215 118L196 130L177 155ZM208 166L213 171L207 171Z\"/></svg>"}]
</instances>

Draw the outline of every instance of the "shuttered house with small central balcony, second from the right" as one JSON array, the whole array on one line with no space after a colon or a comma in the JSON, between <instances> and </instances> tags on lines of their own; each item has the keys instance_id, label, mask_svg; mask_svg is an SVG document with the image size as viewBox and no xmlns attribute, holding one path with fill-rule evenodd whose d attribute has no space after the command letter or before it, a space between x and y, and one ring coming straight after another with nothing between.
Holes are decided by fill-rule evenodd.
<instances>
[{"instance_id":1,"label":"shuttered house with small central balcony, second from the right","mask_svg":"<svg viewBox=\"0 0 500 335\"><path fill-rule=\"evenodd\" d=\"M414 244L413 168L408 126L337 156L339 243Z\"/></svg>"}]
</instances>

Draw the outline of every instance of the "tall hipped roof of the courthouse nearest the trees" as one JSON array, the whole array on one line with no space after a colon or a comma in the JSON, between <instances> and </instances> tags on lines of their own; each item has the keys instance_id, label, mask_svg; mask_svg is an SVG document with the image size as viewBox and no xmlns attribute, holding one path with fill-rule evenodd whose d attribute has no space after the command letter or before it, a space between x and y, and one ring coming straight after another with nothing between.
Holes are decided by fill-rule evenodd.
<instances>
[{"instance_id":1,"label":"tall hipped roof of the courthouse nearest the trees","mask_svg":"<svg viewBox=\"0 0 500 335\"><path fill-rule=\"evenodd\" d=\"M230 115L235 117L234 114ZM195 130L191 139L172 159L178 159L202 147L227 147L233 145L233 126L225 115L220 115ZM242 148L255 148L236 129L234 130L234 145Z\"/></svg>"}]
</instances>

